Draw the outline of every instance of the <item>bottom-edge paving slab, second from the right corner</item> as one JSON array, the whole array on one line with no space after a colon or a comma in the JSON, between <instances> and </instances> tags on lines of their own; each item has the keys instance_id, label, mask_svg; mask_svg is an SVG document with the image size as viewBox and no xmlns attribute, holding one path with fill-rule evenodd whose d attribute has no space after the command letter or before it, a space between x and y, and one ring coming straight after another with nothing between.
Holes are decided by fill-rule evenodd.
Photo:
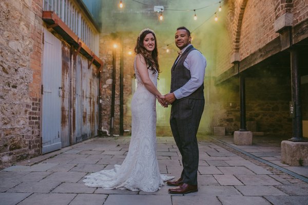
<instances>
[{"instance_id":1,"label":"bottom-edge paving slab, second from the right corner","mask_svg":"<svg viewBox=\"0 0 308 205\"><path fill-rule=\"evenodd\" d=\"M223 205L269 205L267 200L260 196L219 196Z\"/></svg>"}]
</instances>

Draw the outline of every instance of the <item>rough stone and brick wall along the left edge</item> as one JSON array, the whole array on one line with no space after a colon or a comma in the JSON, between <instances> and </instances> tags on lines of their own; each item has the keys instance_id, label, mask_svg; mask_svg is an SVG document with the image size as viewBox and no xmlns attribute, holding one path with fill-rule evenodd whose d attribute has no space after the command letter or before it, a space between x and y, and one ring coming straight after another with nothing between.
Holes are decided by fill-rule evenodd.
<instances>
[{"instance_id":1,"label":"rough stone and brick wall along the left edge","mask_svg":"<svg viewBox=\"0 0 308 205\"><path fill-rule=\"evenodd\" d=\"M42 4L0 2L0 168L40 154Z\"/></svg>"}]
</instances>

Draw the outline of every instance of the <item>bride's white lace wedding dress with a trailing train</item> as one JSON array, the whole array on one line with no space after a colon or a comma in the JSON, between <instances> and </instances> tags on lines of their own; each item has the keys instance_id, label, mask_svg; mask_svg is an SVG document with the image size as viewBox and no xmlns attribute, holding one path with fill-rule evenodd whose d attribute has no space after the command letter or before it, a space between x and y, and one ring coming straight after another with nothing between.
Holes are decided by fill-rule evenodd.
<instances>
[{"instance_id":1,"label":"bride's white lace wedding dress with a trailing train","mask_svg":"<svg viewBox=\"0 0 308 205\"><path fill-rule=\"evenodd\" d=\"M131 139L129 150L122 165L112 170L102 170L86 176L83 181L88 187L104 189L128 189L155 192L164 181L174 177L160 174L156 157L156 96L142 84L136 69L137 90L131 100ZM149 77L157 86L158 73L148 69Z\"/></svg>"}]
</instances>

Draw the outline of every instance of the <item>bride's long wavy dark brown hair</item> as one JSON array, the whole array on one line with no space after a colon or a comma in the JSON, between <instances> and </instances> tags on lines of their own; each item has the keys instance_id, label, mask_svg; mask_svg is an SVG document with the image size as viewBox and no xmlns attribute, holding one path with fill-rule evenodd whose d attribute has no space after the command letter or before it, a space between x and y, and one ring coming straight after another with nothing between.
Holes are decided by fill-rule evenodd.
<instances>
[{"instance_id":1,"label":"bride's long wavy dark brown hair","mask_svg":"<svg viewBox=\"0 0 308 205\"><path fill-rule=\"evenodd\" d=\"M143 46L143 39L149 33L153 34L154 40L155 40L155 48L152 51L151 55L148 53L146 48ZM140 37L137 38L137 43L136 43L136 46L134 48L134 52L136 54L140 54L144 57L144 59L146 61L147 68L150 69L151 71L153 71L153 73L156 73L156 72L160 73L161 72L159 70L159 64L158 64L157 40L156 40L155 33L153 33L150 30L145 30L144 32L142 32Z\"/></svg>"}]
</instances>

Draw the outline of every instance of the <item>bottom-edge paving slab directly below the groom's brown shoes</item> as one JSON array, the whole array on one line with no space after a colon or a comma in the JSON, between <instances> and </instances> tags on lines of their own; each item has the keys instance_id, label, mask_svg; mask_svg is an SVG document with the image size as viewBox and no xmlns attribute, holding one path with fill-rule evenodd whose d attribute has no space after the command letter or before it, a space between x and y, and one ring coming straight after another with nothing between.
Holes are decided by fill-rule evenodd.
<instances>
[{"instance_id":1,"label":"bottom-edge paving slab directly below the groom's brown shoes","mask_svg":"<svg viewBox=\"0 0 308 205\"><path fill-rule=\"evenodd\" d=\"M221 202L215 196L172 196L173 205L184 205L184 204L194 204L194 205L221 205Z\"/></svg>"}]
</instances>

